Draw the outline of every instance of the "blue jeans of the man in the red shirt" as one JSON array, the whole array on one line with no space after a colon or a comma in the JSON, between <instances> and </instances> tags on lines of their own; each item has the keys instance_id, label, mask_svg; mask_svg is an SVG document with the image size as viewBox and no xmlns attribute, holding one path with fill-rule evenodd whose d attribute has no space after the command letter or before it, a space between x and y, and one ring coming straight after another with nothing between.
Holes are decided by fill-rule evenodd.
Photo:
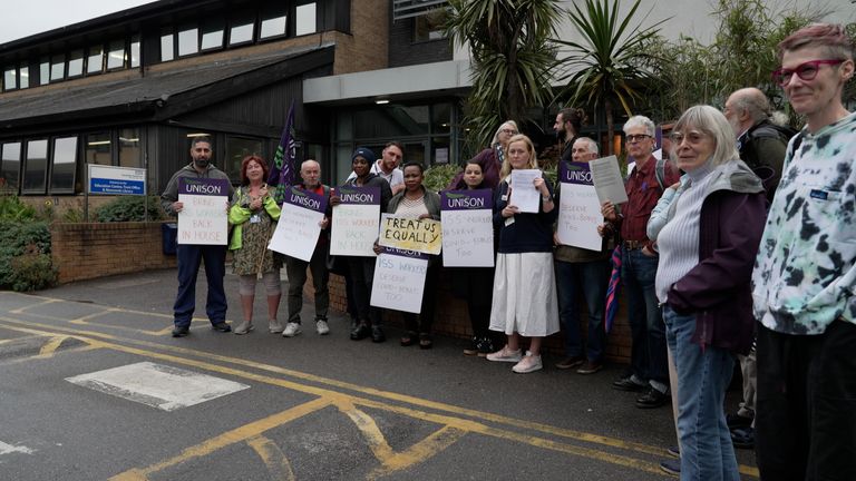
<instances>
[{"instance_id":1,"label":"blue jeans of the man in the red shirt","mask_svg":"<svg viewBox=\"0 0 856 481\"><path fill-rule=\"evenodd\" d=\"M660 312L654 278L659 257L641 249L621 249L621 283L628 295L628 321L633 341L630 367L639 379L669 385L665 355L665 327Z\"/></svg>"}]
</instances>

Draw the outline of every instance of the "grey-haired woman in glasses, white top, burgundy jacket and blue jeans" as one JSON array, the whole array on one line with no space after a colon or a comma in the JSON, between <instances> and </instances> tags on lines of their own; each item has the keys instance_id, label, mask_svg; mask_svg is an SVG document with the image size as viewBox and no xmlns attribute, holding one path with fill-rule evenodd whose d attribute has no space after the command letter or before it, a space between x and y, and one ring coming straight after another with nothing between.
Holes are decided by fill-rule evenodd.
<instances>
[{"instance_id":1,"label":"grey-haired woman in glasses, white top, burgundy jacket and blue jeans","mask_svg":"<svg viewBox=\"0 0 856 481\"><path fill-rule=\"evenodd\" d=\"M672 132L687 173L656 233L656 296L678 372L682 480L739 480L722 411L733 353L752 342L750 279L765 222L761 180L738 157L726 117L688 109Z\"/></svg>"}]
</instances>

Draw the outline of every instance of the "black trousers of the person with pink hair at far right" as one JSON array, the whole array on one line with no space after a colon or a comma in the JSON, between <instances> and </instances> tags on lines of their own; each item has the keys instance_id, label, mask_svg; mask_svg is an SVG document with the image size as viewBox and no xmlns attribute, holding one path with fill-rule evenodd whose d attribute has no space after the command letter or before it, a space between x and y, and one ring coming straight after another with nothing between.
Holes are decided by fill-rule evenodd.
<instances>
[{"instance_id":1,"label":"black trousers of the person with pink hair at far right","mask_svg":"<svg viewBox=\"0 0 856 481\"><path fill-rule=\"evenodd\" d=\"M856 480L856 325L790 335L759 323L756 404L762 480Z\"/></svg>"}]
</instances>

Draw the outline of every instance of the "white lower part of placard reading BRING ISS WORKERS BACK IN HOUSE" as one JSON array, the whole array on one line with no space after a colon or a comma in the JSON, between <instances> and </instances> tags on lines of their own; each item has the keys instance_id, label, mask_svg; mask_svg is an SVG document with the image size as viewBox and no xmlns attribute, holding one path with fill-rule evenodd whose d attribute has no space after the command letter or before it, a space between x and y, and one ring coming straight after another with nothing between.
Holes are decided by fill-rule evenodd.
<instances>
[{"instance_id":1,"label":"white lower part of placard reading BRING ISS WORKERS BACK IN HOUSE","mask_svg":"<svg viewBox=\"0 0 856 481\"><path fill-rule=\"evenodd\" d=\"M178 244L226 245L228 196L178 194Z\"/></svg>"}]
</instances>

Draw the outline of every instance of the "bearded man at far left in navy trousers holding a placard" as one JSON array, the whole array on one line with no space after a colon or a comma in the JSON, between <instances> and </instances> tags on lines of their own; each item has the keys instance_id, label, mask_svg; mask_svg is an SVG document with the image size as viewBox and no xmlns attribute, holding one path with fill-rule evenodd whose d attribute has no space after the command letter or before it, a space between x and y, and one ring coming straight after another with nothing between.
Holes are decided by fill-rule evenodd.
<instances>
[{"instance_id":1,"label":"bearded man at far left in navy trousers holding a placard","mask_svg":"<svg viewBox=\"0 0 856 481\"><path fill-rule=\"evenodd\" d=\"M175 173L160 195L160 205L168 215L177 215L187 207L178 199L178 188L182 185L197 185L184 194L208 194L223 197L222 219L228 215L228 198L232 197L232 184L228 176L211 164L211 139L208 137L194 137L191 141L189 165ZM212 181L213 180L213 181ZM217 181L218 180L218 181ZM186 188L186 187L185 187ZM192 192L195 190L195 192ZM201 197L201 196L200 196ZM217 199L218 200L218 199ZM200 230L201 232L201 230ZM222 234L222 243L220 237ZM214 238L214 237L217 238ZM184 243L178 239L178 294L175 298L173 337L183 337L189 333L193 312L196 310L196 276L200 273L200 264L205 263L205 277L208 282L208 296L205 312L215 331L230 332L232 327L226 324L226 293L223 288L223 277L226 274L226 232L213 233L210 236L216 243L203 243L201 238L193 243Z\"/></svg>"}]
</instances>

